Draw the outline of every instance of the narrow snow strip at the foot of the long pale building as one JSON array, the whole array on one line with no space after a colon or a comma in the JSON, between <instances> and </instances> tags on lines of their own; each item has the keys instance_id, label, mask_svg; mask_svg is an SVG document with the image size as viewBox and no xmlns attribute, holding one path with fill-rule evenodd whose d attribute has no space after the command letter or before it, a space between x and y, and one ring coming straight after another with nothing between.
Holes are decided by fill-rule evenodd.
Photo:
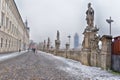
<instances>
[{"instance_id":1,"label":"narrow snow strip at the foot of the long pale building","mask_svg":"<svg viewBox=\"0 0 120 80\"><path fill-rule=\"evenodd\" d=\"M21 54L24 54L26 51L21 51L21 52L14 52L14 53L7 53L7 54L0 54L0 61L4 61L16 56L19 56Z\"/></svg>"}]
</instances>

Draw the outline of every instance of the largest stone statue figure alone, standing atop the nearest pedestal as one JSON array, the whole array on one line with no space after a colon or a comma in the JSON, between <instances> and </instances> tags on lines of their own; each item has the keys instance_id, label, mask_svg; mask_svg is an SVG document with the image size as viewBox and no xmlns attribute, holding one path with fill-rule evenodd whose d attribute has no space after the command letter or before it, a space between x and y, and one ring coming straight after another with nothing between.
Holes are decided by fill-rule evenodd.
<instances>
[{"instance_id":1,"label":"largest stone statue figure alone, standing atop the nearest pedestal","mask_svg":"<svg viewBox=\"0 0 120 80\"><path fill-rule=\"evenodd\" d=\"M86 11L86 20L89 27L93 27L94 10L91 7L91 3L88 3L88 10Z\"/></svg>"}]
</instances>

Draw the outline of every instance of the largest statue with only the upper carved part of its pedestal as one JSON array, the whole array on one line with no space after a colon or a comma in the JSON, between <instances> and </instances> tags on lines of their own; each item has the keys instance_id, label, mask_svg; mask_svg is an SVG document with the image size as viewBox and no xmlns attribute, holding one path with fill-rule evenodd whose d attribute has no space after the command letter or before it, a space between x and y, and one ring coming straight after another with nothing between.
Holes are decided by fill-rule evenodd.
<instances>
[{"instance_id":1,"label":"largest statue with only the upper carved part of its pedestal","mask_svg":"<svg viewBox=\"0 0 120 80\"><path fill-rule=\"evenodd\" d=\"M97 28L97 26L94 26L94 10L91 7L91 3L88 3L88 10L86 11L86 21L88 26L83 32L84 40L82 46L85 49L98 51L100 36L97 35L97 32L99 31L99 29Z\"/></svg>"}]
</instances>

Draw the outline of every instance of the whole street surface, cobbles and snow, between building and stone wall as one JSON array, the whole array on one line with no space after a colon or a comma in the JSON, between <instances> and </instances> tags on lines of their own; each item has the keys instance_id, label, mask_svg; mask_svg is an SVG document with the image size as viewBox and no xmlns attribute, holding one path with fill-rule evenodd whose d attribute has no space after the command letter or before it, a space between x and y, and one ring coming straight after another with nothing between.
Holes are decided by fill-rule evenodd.
<instances>
[{"instance_id":1,"label":"whole street surface, cobbles and snow, between building and stone wall","mask_svg":"<svg viewBox=\"0 0 120 80\"><path fill-rule=\"evenodd\" d=\"M120 80L120 75L101 68L41 51L13 53L1 60L8 58L0 63L0 80Z\"/></svg>"}]
</instances>

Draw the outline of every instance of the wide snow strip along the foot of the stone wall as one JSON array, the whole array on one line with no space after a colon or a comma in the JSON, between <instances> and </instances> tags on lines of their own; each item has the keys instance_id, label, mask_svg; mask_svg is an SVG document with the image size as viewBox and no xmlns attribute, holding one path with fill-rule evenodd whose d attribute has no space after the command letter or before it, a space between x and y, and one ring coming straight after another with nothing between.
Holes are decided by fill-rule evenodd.
<instances>
[{"instance_id":1,"label":"wide snow strip along the foot of the stone wall","mask_svg":"<svg viewBox=\"0 0 120 80\"><path fill-rule=\"evenodd\" d=\"M67 64L68 66L58 65L57 68L69 73L69 75L74 75L74 76L76 76L76 78L78 77L78 79L82 79L82 80L120 80L120 75L114 75L108 71L102 70L101 68L85 66L85 65L82 65L78 61L66 59L66 58L59 57L59 56L54 56L52 54L47 54L47 55Z\"/></svg>"}]
</instances>

